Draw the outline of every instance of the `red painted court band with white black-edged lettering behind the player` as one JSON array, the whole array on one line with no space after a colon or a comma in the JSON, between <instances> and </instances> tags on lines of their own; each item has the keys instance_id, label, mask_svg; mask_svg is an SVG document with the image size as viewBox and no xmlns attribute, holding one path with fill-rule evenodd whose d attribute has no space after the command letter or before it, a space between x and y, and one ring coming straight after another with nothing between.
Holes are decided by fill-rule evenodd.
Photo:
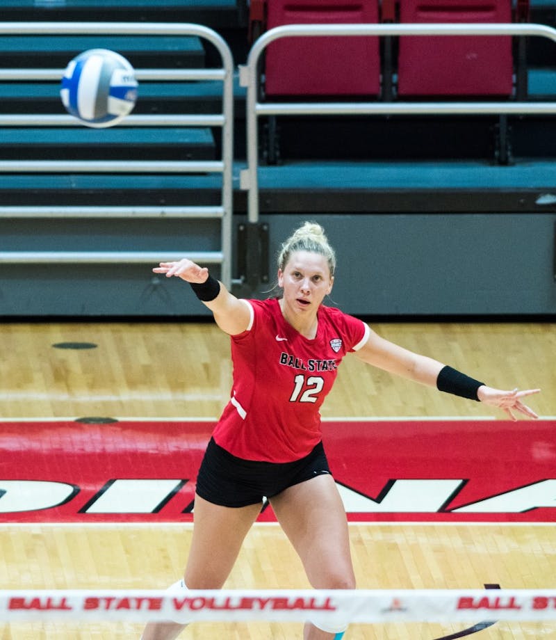
<instances>
[{"instance_id":1,"label":"red painted court band with white black-edged lettering behind the player","mask_svg":"<svg viewBox=\"0 0 556 640\"><path fill-rule=\"evenodd\" d=\"M555 522L556 422L324 422L354 522ZM0 522L190 522L213 422L0 423ZM270 506L261 522L275 520Z\"/></svg>"}]
</instances>

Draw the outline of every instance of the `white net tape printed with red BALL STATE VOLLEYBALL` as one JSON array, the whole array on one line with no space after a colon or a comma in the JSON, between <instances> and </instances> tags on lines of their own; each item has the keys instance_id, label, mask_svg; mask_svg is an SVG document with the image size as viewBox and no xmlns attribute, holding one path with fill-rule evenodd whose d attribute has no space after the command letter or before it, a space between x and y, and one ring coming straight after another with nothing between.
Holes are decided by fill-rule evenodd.
<instances>
[{"instance_id":1,"label":"white net tape printed with red BALL STATE VOLLEYBALL","mask_svg":"<svg viewBox=\"0 0 556 640\"><path fill-rule=\"evenodd\" d=\"M0 591L0 620L352 623L556 621L555 589Z\"/></svg>"}]
</instances>

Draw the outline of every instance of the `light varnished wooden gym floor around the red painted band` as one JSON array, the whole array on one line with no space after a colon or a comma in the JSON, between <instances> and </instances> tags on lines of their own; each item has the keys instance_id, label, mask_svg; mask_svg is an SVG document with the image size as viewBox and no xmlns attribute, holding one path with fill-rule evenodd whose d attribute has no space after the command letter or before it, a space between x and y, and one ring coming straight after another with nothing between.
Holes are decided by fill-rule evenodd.
<instances>
[{"instance_id":1,"label":"light varnished wooden gym floor around the red painted band","mask_svg":"<svg viewBox=\"0 0 556 640\"><path fill-rule=\"evenodd\" d=\"M556 332L550 323L380 323L375 330L499 387L541 387L530 404L556 414ZM90 342L95 349L54 344ZM4 323L2 418L214 418L229 397L229 342L211 323ZM325 418L504 419L479 403L441 394L348 356ZM521 422L528 429L528 422ZM1 429L1 424L0 424ZM552 440L556 443L556 435ZM550 445L550 443L549 443ZM552 445L550 445L552 446ZM550 454L550 447L548 452ZM523 462L526 464L524 451ZM0 456L6 451L0 451ZM555 456L556 460L556 456ZM1 468L0 458L0 468ZM553 518L556 520L556 518ZM553 522L357 522L350 525L359 587L553 588ZM0 524L1 589L164 588L179 577L189 524ZM300 562L277 525L257 524L227 584L305 588ZM352 625L346 640L433 640L465 625ZM190 639L295 640L300 625L198 624ZM2 623L0 640L137 639L140 625ZM556 623L496 623L484 640L556 639Z\"/></svg>"}]
</instances>

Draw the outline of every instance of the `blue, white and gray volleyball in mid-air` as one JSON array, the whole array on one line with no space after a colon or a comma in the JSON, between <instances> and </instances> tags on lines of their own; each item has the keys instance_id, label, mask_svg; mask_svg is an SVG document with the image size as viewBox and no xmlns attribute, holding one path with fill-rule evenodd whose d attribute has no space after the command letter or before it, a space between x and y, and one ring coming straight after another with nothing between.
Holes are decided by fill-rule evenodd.
<instances>
[{"instance_id":1,"label":"blue, white and gray volleyball in mid-air","mask_svg":"<svg viewBox=\"0 0 556 640\"><path fill-rule=\"evenodd\" d=\"M133 110L137 80L115 51L89 49L67 65L60 88L65 109L87 127L113 127Z\"/></svg>"}]
</instances>

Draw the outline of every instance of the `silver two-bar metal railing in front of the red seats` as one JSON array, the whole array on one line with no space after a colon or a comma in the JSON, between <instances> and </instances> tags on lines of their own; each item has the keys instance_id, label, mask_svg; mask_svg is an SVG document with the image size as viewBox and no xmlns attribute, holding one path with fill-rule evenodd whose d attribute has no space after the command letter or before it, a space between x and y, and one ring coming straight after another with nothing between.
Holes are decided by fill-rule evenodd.
<instances>
[{"instance_id":1,"label":"silver two-bar metal railing in front of the red seats","mask_svg":"<svg viewBox=\"0 0 556 640\"><path fill-rule=\"evenodd\" d=\"M259 115L448 114L448 113L556 113L556 102L265 102L259 95L259 60L270 42L301 36L404 35L517 35L539 36L556 42L556 29L544 24L287 24L261 35L240 67L241 86L247 88L247 168L240 184L247 191L247 219L259 221Z\"/></svg>"}]
</instances>

